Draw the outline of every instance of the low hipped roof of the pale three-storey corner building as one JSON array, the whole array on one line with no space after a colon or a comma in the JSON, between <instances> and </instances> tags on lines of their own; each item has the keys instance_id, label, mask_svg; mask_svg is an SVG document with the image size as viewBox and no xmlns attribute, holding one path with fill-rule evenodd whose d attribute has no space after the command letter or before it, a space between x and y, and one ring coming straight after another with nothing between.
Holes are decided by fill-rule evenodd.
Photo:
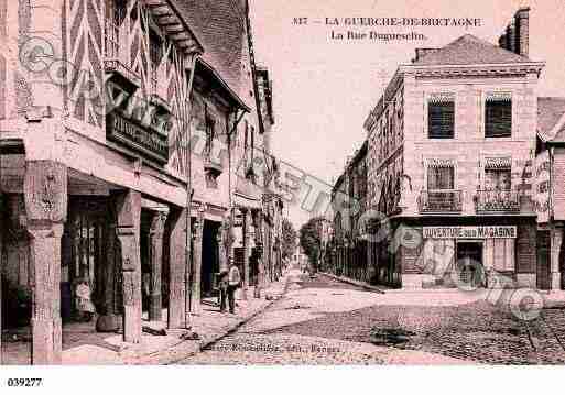
<instances>
[{"instance_id":1,"label":"low hipped roof of the pale three-storey corner building","mask_svg":"<svg viewBox=\"0 0 565 395\"><path fill-rule=\"evenodd\" d=\"M465 34L446 46L431 51L414 61L414 65L476 65L528 63L530 58L503 50L472 34Z\"/></svg>"}]
</instances>

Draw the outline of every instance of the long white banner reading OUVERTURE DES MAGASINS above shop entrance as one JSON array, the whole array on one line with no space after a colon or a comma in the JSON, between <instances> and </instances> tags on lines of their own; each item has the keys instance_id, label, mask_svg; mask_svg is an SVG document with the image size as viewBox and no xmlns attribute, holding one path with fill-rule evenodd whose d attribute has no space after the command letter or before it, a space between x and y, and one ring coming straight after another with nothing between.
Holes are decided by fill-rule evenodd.
<instances>
[{"instance_id":1,"label":"long white banner reading OUVERTURE DES MAGASINS above shop entrance","mask_svg":"<svg viewBox=\"0 0 565 395\"><path fill-rule=\"evenodd\" d=\"M424 227L424 239L515 239L517 227Z\"/></svg>"}]
</instances>

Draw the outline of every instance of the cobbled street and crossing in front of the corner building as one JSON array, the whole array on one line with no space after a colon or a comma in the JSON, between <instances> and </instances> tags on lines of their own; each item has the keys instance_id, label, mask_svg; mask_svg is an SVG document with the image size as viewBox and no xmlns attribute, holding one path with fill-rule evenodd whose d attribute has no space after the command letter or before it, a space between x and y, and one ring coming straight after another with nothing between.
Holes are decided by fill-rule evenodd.
<instances>
[{"instance_id":1,"label":"cobbled street and crossing in front of the corner building","mask_svg":"<svg viewBox=\"0 0 565 395\"><path fill-rule=\"evenodd\" d=\"M459 292L377 294L324 275L293 273L262 315L185 360L187 364L563 363L564 311L525 325L483 296ZM374 329L409 341L376 345Z\"/></svg>"}]
</instances>

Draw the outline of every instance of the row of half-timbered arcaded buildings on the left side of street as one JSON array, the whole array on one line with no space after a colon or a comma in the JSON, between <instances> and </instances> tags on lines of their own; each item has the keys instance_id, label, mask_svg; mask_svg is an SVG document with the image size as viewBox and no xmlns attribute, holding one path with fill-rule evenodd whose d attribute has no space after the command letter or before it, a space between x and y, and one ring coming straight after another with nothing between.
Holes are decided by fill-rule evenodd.
<instances>
[{"instance_id":1,"label":"row of half-timbered arcaded buildings on the left side of street","mask_svg":"<svg viewBox=\"0 0 565 395\"><path fill-rule=\"evenodd\" d=\"M144 310L184 328L233 257L237 165L260 130L247 1L0 8L2 290L33 299L32 363L61 362L79 281L126 342Z\"/></svg>"}]
</instances>

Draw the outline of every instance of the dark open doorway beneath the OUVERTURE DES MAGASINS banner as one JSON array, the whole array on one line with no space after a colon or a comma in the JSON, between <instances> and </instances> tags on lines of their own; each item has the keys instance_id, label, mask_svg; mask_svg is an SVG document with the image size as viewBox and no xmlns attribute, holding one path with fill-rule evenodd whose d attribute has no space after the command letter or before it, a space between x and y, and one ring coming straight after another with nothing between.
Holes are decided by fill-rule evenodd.
<instances>
[{"instance_id":1,"label":"dark open doorway beneath the OUVERTURE DES MAGASINS banner","mask_svg":"<svg viewBox=\"0 0 565 395\"><path fill-rule=\"evenodd\" d=\"M457 275L459 284L470 288L485 286L482 243L457 243Z\"/></svg>"}]
</instances>

